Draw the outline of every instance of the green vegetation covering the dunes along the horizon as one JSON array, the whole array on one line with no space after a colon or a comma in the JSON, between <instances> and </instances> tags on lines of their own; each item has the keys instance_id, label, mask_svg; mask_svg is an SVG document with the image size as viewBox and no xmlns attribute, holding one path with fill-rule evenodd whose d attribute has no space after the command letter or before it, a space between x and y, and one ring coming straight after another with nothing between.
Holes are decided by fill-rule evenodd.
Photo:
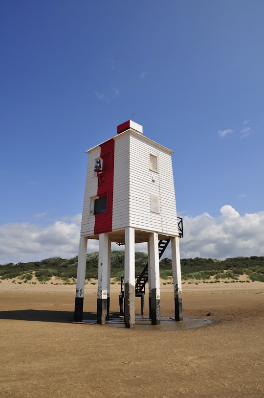
<instances>
[{"instance_id":1,"label":"green vegetation covering the dunes along the horizon","mask_svg":"<svg viewBox=\"0 0 264 398\"><path fill-rule=\"evenodd\" d=\"M140 275L148 261L148 256L143 252L135 253L135 274ZM38 281L44 283L52 277L62 279L65 284L75 283L77 274L78 256L70 259L52 257L42 261L8 263L0 265L0 279L18 278L19 283L31 281L33 274ZM224 279L238 281L240 275L246 275L248 281L264 282L264 257L235 257L225 260L213 258L182 258L182 280L208 281L214 279L218 282ZM86 278L97 279L98 276L98 252L87 255ZM124 251L113 250L111 252L111 277L120 281L124 276ZM172 261L163 258L160 261L160 277L171 280ZM210 281L211 283L212 281ZM167 282L170 283L170 282ZM206 282L207 283L207 282Z\"/></svg>"}]
</instances>

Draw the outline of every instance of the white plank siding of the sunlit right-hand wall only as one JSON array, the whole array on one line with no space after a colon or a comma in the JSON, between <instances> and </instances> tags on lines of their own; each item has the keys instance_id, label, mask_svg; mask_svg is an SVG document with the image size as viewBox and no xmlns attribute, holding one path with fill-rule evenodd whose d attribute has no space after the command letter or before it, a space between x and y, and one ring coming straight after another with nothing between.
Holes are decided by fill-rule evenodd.
<instances>
[{"instance_id":1,"label":"white plank siding of the sunlit right-hand wall only","mask_svg":"<svg viewBox=\"0 0 264 398\"><path fill-rule=\"evenodd\" d=\"M150 170L150 154L157 156L157 173ZM159 214L151 211L151 194L159 197ZM131 135L130 140L130 226L178 233L171 151L139 135Z\"/></svg>"}]
</instances>

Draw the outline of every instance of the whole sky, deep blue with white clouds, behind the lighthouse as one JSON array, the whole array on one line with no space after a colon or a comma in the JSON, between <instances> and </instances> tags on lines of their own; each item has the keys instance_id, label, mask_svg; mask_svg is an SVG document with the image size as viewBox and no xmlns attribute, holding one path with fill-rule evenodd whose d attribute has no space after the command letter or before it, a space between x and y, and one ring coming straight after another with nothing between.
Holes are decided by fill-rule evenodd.
<instances>
[{"instance_id":1,"label":"whole sky, deep blue with white clouds, behind the lighthouse","mask_svg":"<svg viewBox=\"0 0 264 398\"><path fill-rule=\"evenodd\" d=\"M78 253L85 151L133 113L175 151L182 257L264 256L263 15L262 0L1 1L0 263Z\"/></svg>"}]
</instances>

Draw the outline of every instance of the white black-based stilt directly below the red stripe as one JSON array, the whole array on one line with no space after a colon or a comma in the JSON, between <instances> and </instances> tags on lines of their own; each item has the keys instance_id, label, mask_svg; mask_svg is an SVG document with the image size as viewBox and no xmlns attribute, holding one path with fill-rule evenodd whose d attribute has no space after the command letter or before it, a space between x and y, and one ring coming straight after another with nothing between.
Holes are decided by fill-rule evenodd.
<instances>
[{"instance_id":1,"label":"white black-based stilt directly below the red stripe","mask_svg":"<svg viewBox=\"0 0 264 398\"><path fill-rule=\"evenodd\" d=\"M102 325L107 316L109 236L99 234L97 323Z\"/></svg>"}]
</instances>

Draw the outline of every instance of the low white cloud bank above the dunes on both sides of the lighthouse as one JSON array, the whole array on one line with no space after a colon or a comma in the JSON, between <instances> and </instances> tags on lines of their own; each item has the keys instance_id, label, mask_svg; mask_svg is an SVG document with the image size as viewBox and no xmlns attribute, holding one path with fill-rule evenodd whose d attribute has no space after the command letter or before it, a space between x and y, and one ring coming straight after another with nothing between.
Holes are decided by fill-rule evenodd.
<instances>
[{"instance_id":1,"label":"low white cloud bank above the dunes on both sides of the lighthouse","mask_svg":"<svg viewBox=\"0 0 264 398\"><path fill-rule=\"evenodd\" d=\"M78 254L81 215L50 225L10 223L0 226L0 264L38 261L49 257L71 258ZM219 217L203 213L184 216L181 258L264 256L264 211L239 214L225 205ZM136 245L145 250L146 245ZM112 247L115 250L119 246ZM124 247L121 246L121 249ZM98 241L88 240L88 252L98 251ZM169 248L163 257L171 257Z\"/></svg>"}]
</instances>

